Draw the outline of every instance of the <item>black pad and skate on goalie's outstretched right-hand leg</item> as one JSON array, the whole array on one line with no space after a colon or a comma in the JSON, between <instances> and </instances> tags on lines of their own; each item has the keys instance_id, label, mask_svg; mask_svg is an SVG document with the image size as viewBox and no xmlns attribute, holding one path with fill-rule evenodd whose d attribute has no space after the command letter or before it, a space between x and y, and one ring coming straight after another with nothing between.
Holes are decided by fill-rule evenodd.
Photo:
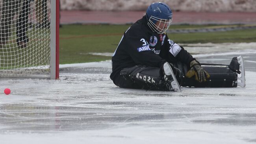
<instances>
[{"instance_id":1,"label":"black pad and skate on goalie's outstretched right-hand leg","mask_svg":"<svg viewBox=\"0 0 256 144\"><path fill-rule=\"evenodd\" d=\"M240 83L237 83L237 73L239 73L239 65L241 67L241 62L237 58L233 58L230 65L216 64L216 63L201 63L202 68L210 74L210 79L206 82L199 83L194 78L187 78L184 75L188 70L188 66L184 63L175 63L174 67L179 68L182 71L182 84L181 86L189 87L237 87ZM241 60L240 60L241 61ZM243 67L241 69L244 69ZM244 74L243 70L242 74ZM243 76L243 75L242 75ZM245 78L241 78L245 79ZM241 80L242 81L242 80ZM243 81L242 81L243 82ZM243 84L240 84L243 85ZM239 85L239 86L240 86ZM242 86L243 87L243 86Z\"/></svg>"}]
</instances>

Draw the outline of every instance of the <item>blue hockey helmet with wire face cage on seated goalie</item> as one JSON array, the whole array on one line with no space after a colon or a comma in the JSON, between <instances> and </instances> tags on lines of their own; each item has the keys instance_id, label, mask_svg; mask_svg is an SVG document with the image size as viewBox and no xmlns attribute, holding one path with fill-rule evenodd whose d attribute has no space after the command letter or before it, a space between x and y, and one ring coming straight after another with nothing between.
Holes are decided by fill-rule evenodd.
<instances>
[{"instance_id":1,"label":"blue hockey helmet with wire face cage on seated goalie","mask_svg":"<svg viewBox=\"0 0 256 144\"><path fill-rule=\"evenodd\" d=\"M148 6L146 18L152 31L163 34L171 25L173 13L170 7L163 2L152 3Z\"/></svg>"}]
</instances>

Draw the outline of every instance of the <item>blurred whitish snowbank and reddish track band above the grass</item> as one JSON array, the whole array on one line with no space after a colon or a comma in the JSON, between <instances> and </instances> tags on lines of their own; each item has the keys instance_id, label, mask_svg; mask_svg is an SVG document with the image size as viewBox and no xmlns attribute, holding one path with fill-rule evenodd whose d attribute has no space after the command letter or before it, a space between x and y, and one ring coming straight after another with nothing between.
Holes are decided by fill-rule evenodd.
<instances>
[{"instance_id":1,"label":"blurred whitish snowbank and reddish track band above the grass","mask_svg":"<svg viewBox=\"0 0 256 144\"><path fill-rule=\"evenodd\" d=\"M156 0L60 0L61 23L134 23ZM162 0L173 24L255 23L255 0Z\"/></svg>"}]
</instances>

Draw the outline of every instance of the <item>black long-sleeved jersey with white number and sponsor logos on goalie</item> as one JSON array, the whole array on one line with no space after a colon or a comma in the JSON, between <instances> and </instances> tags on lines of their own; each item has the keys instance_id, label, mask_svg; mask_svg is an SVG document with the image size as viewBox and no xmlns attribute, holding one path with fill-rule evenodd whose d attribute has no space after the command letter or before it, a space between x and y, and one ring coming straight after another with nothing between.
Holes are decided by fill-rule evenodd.
<instances>
[{"instance_id":1,"label":"black long-sleeved jersey with white number and sponsor logos on goalie","mask_svg":"<svg viewBox=\"0 0 256 144\"><path fill-rule=\"evenodd\" d=\"M167 34L153 32L143 16L124 32L112 56L110 78L114 81L123 68L135 65L160 68L166 61L182 61L189 65L192 60L194 58L183 47L169 40Z\"/></svg>"}]
</instances>

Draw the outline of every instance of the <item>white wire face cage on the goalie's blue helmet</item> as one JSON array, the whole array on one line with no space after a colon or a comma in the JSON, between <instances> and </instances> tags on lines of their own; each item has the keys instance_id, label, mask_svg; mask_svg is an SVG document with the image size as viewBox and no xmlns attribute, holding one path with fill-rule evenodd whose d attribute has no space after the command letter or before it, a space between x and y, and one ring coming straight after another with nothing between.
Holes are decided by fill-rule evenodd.
<instances>
[{"instance_id":1,"label":"white wire face cage on the goalie's blue helmet","mask_svg":"<svg viewBox=\"0 0 256 144\"><path fill-rule=\"evenodd\" d=\"M167 31L173 19L161 19L154 16L150 16L148 20L148 26L150 29L158 34L163 34ZM159 23L157 23L159 22ZM166 25L166 28L165 28Z\"/></svg>"}]
</instances>

